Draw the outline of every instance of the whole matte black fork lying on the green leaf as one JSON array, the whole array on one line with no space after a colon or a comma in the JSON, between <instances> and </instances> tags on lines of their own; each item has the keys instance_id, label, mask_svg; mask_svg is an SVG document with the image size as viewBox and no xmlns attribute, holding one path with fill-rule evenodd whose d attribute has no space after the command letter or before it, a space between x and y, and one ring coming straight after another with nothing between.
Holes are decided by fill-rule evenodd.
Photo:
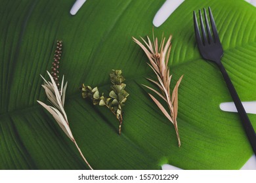
<instances>
[{"instance_id":1,"label":"whole matte black fork lying on the green leaf","mask_svg":"<svg viewBox=\"0 0 256 183\"><path fill-rule=\"evenodd\" d=\"M251 147L253 148L254 154L256 154L255 131L253 129L253 126L251 125L251 122L249 121L249 118L238 97L238 94L236 93L236 90L228 76L228 73L226 73L226 69L224 69L224 66L221 63L221 57L223 56L223 47L221 46L221 41L219 40L219 35L213 19L213 14L211 13L211 8L208 7L208 9L209 9L209 18L211 21L211 27L208 23L208 18L207 18L207 13L205 8L203 8L205 25L203 24L203 17L202 17L201 10L199 10L202 36L200 33L200 29L198 27L196 12L194 11L194 28L195 28L195 34L196 34L196 42L198 43L198 49L203 59L213 61L219 66L219 69L223 74L223 78L226 82L230 95L232 96L234 104L236 105L236 109L238 110L238 114L240 115L240 118L242 120L242 124L244 125L245 133L249 139L249 142L251 143ZM205 31L205 27L206 27L206 31Z\"/></svg>"}]
</instances>

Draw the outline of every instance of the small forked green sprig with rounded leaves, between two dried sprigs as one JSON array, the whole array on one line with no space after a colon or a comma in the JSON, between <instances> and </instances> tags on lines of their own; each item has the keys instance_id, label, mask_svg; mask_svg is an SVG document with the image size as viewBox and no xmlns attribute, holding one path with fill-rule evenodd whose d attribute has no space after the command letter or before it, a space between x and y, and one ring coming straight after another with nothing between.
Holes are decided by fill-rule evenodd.
<instances>
[{"instance_id":1,"label":"small forked green sprig with rounded leaves, between two dried sprigs","mask_svg":"<svg viewBox=\"0 0 256 183\"><path fill-rule=\"evenodd\" d=\"M89 98L93 101L93 105L106 106L119 120L119 135L121 135L121 125L123 123L123 111L125 101L129 93L125 91L126 84L123 83L125 78L121 75L121 70L112 70L110 73L110 81L112 83L109 97L105 97L104 93L100 95L98 88L91 88L91 86L81 87L82 97Z\"/></svg>"}]
</instances>

